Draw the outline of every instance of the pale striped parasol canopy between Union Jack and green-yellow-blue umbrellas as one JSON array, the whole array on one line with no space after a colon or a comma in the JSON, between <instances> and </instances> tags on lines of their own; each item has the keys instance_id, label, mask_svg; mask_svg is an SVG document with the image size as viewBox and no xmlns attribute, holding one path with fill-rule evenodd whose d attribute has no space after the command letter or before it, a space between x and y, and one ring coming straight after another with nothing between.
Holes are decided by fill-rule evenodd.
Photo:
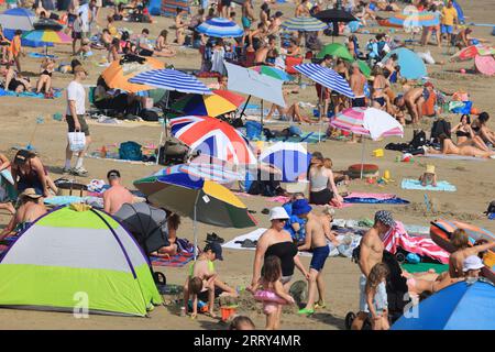
<instances>
[{"instance_id":1,"label":"pale striped parasol canopy between Union Jack and green-yellow-blue umbrellas","mask_svg":"<svg viewBox=\"0 0 495 352\"><path fill-rule=\"evenodd\" d=\"M153 176L165 176L177 173L188 174L193 179L204 178L205 180L212 180L220 185L242 179L239 173L222 167L221 165L207 163L174 165L161 169Z\"/></svg>"}]
</instances>

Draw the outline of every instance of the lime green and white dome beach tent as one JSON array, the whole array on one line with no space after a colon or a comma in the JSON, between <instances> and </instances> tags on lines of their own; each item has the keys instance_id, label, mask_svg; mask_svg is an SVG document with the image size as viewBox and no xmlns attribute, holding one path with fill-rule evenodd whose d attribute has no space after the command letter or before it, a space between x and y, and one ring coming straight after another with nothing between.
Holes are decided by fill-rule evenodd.
<instances>
[{"instance_id":1,"label":"lime green and white dome beach tent","mask_svg":"<svg viewBox=\"0 0 495 352\"><path fill-rule=\"evenodd\" d=\"M0 306L146 316L162 302L148 262L111 216L66 206L35 221L0 261Z\"/></svg>"}]
</instances>

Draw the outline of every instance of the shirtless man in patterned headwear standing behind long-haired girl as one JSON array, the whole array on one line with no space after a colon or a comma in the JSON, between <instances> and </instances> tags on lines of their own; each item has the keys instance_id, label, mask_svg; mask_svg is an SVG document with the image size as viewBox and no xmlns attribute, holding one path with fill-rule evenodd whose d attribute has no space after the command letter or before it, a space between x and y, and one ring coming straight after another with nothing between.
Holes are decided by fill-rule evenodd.
<instances>
[{"instance_id":1,"label":"shirtless man in patterned headwear standing behind long-haired girl","mask_svg":"<svg viewBox=\"0 0 495 352\"><path fill-rule=\"evenodd\" d=\"M352 330L361 330L369 316L370 309L366 304L365 293L367 276L370 275L373 266L382 263L384 251L382 237L394 227L395 221L392 213L386 210L380 210L375 213L375 223L373 224L373 228L371 228L361 240L359 261L362 273L360 278L360 311L358 312L358 317L352 322ZM386 301L385 283L378 285L377 292L383 296L382 299Z\"/></svg>"}]
</instances>

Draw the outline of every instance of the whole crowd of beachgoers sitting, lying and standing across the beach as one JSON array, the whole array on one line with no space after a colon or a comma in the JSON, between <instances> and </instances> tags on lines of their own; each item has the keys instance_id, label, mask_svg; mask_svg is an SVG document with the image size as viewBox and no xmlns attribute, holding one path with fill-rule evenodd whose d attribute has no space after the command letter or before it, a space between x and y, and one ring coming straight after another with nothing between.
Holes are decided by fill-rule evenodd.
<instances>
[{"instance_id":1,"label":"whole crowd of beachgoers sitting, lying and standing across the beach","mask_svg":"<svg viewBox=\"0 0 495 352\"><path fill-rule=\"evenodd\" d=\"M208 3L208 1L206 1ZM419 0L413 1L419 10L428 10L438 15L441 21L438 26L425 28L421 44L429 45L430 37L435 33L436 45L448 45L465 47L474 43L471 37L472 31L464 26L455 31L459 23L458 13L452 1ZM264 1L258 11L255 10L253 1L244 1L241 6L241 23L243 35L229 42L222 38L208 37L196 29L204 22L222 16L237 22L238 14L232 8L232 1L219 0L216 6L201 6L195 15L187 19L188 13L183 8L177 8L175 24L160 31L155 41L150 40L148 28L143 28L138 35L131 35L125 30L119 30L117 22L134 21L140 23L152 23L152 18L146 10L146 2L132 0L128 6L122 3L114 7L113 13L106 19L106 25L100 33L96 33L97 24L103 21L100 18L101 1L90 0L80 4L78 0L72 0L66 14L56 14L53 10L43 8L42 1L33 7L36 14L44 21L66 20L67 29L70 31L73 45L72 54L77 56L73 61L70 72L73 80L66 87L66 111L65 122L67 132L82 132L85 145L74 152L70 142L67 141L65 151L65 163L62 173L78 177L88 177L89 172L85 167L85 156L91 144L91 134L87 121L87 91L85 80L89 73L84 58L91 55L92 51L106 50L108 63L120 62L124 55L141 57L174 57L183 45L190 45L198 50L201 55L202 73L213 74L211 77L219 78L218 88L227 88L227 72L223 61L234 62L245 66L266 65L285 70L288 63L302 63L311 59L312 52L322 47L323 31L320 32L296 32L286 33L283 30L283 16L280 11L274 11L275 1ZM326 3L327 4L327 3ZM328 3L329 8L333 6ZM363 25L377 20L377 11L400 11L396 1L337 1L339 7L356 16ZM310 16L324 10L322 3L312 3L301 0L295 7L294 16ZM292 14L290 14L292 16ZM147 25L147 24L144 24ZM175 31L174 43L169 43L169 34ZM334 28L333 34L342 31ZM22 57L25 56L24 47L21 45L22 31L16 31L14 37L8 41L0 31L3 76L2 87L4 90L21 94L33 91L43 94L46 98L53 98L53 73L56 63L45 57L40 66L36 84L32 84L28 75L21 70ZM95 35L94 35L95 34ZM79 42L79 44L78 44ZM305 43L302 45L302 42ZM447 44L446 44L447 43ZM437 96L436 87L430 81L415 82L402 77L398 56L385 56L393 50L404 46L404 41L392 37L387 33L377 34L365 45L360 43L355 34L350 34L344 41L344 46L351 54L353 62L345 61L339 56L324 55L316 61L318 65L333 69L345 81L349 82L354 98L345 98L319 84L316 85L316 100L318 101L320 122L329 122L346 108L372 107L386 111L397 119L400 124L406 125L408 120L416 127L424 120L424 106L432 95ZM311 53L308 55L308 53ZM359 59L371 66L371 75L365 76ZM22 66L21 66L22 65ZM86 66L86 67L85 67ZM206 76L208 77L208 75ZM397 94L396 84L402 85L402 92ZM99 77L95 89L95 106L105 110L108 108L120 109L122 114L131 113L134 107L140 105L141 97L119 92L110 95L105 79ZM286 102L290 94L298 94L297 89L284 90ZM287 103L287 108L273 105L267 120L275 119L273 116L278 111L280 120L290 120L301 123L314 123L308 117L304 117L299 105ZM328 119L327 119L328 118ZM488 128L488 112L466 113L452 129L446 130L438 135L436 143L425 146L425 152L430 154L458 154L463 156L492 157L495 158L495 131ZM334 138L339 131L329 125L328 135ZM457 135L455 143L451 134ZM358 135L352 135L350 143L359 142ZM260 152L260 151L258 151ZM76 155L74 155L76 154ZM75 162L75 163L74 163ZM0 239L19 233L28 229L36 219L44 216L48 209L44 205L44 198L57 195L57 185L51 178L47 168L36 153L20 150L13 158L9 160L0 153L0 172L9 170L12 183L7 185L8 191L12 194L10 200L0 204L1 210L11 215L11 220L0 233ZM262 172L268 174L279 173L273 165L257 166L255 176ZM290 286L297 268L308 283L307 300L300 305L298 314L311 316L319 309L324 309L328 297L326 295L327 284L323 280L323 268L329 257L328 243L336 248L343 243L337 239L332 231L334 208L343 205L343 195L340 186L349 185L350 178L344 172L333 169L332 160L324 157L322 153L311 154L311 162L307 170L309 180L309 193L288 195L280 183L274 178L257 180L255 187L261 187L263 194L273 196L290 196L290 200L283 207L272 208L268 212L271 223L257 240L252 265L252 277L248 292L263 304L263 314L266 316L265 328L268 330L280 329L283 308L286 305L301 304L290 295ZM118 169L111 169L107 174L109 188L103 193L103 210L116 215L124 204L136 201L134 195L122 184L122 175ZM427 167L426 173L420 176L419 182L424 185L437 185L435 166ZM244 189L251 193L250 189ZM18 195L18 196L15 196ZM154 205L151 205L154 206ZM321 206L317 208L318 206ZM166 211L167 240L157 251L147 253L155 256L169 257L176 255L180 249L178 244L180 217L172 211ZM388 301L386 280L393 275L391 268L384 263L384 235L396 227L392 213L380 210L374 215L373 226L363 235L358 250L358 264L361 271L359 279L360 309L352 322L352 328L362 329L365 321L370 321L374 330L387 330L391 326L388 314ZM211 237L213 238L213 237ZM483 255L486 251L495 248L495 242L477 243L471 246L469 237L464 230L457 230L452 234L452 244L455 252L450 255L449 271L442 274L432 272L410 274L403 271L400 274L407 279L408 293L415 299L424 293L435 294L438 290L455 284L460 280L476 278L483 267ZM309 267L306 267L299 257L300 252L311 252L312 257ZM187 267L184 284L184 308L191 318L198 315L199 302L206 302L206 312L216 318L216 299L220 296L238 297L237 289L230 287L219 278L215 262L223 261L221 241L210 239L199 256ZM189 305L190 302L190 305ZM254 324L249 317L237 317L232 320L231 330L253 329Z\"/></svg>"}]
</instances>

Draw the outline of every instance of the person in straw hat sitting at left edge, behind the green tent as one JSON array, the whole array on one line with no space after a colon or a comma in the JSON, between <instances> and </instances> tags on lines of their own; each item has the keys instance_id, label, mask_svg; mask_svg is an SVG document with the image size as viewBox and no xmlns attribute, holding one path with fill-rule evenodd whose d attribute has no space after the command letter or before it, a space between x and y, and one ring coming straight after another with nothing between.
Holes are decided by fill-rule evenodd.
<instances>
[{"instance_id":1,"label":"person in straw hat sitting at left edge, behind the green tent","mask_svg":"<svg viewBox=\"0 0 495 352\"><path fill-rule=\"evenodd\" d=\"M36 219L46 213L43 196L36 194L34 188L24 189L19 198L21 199L22 205L19 207L15 215L12 216L7 228L0 233L0 240L3 240L4 237L11 234L18 227L20 227L19 230L21 231L26 229Z\"/></svg>"}]
</instances>

